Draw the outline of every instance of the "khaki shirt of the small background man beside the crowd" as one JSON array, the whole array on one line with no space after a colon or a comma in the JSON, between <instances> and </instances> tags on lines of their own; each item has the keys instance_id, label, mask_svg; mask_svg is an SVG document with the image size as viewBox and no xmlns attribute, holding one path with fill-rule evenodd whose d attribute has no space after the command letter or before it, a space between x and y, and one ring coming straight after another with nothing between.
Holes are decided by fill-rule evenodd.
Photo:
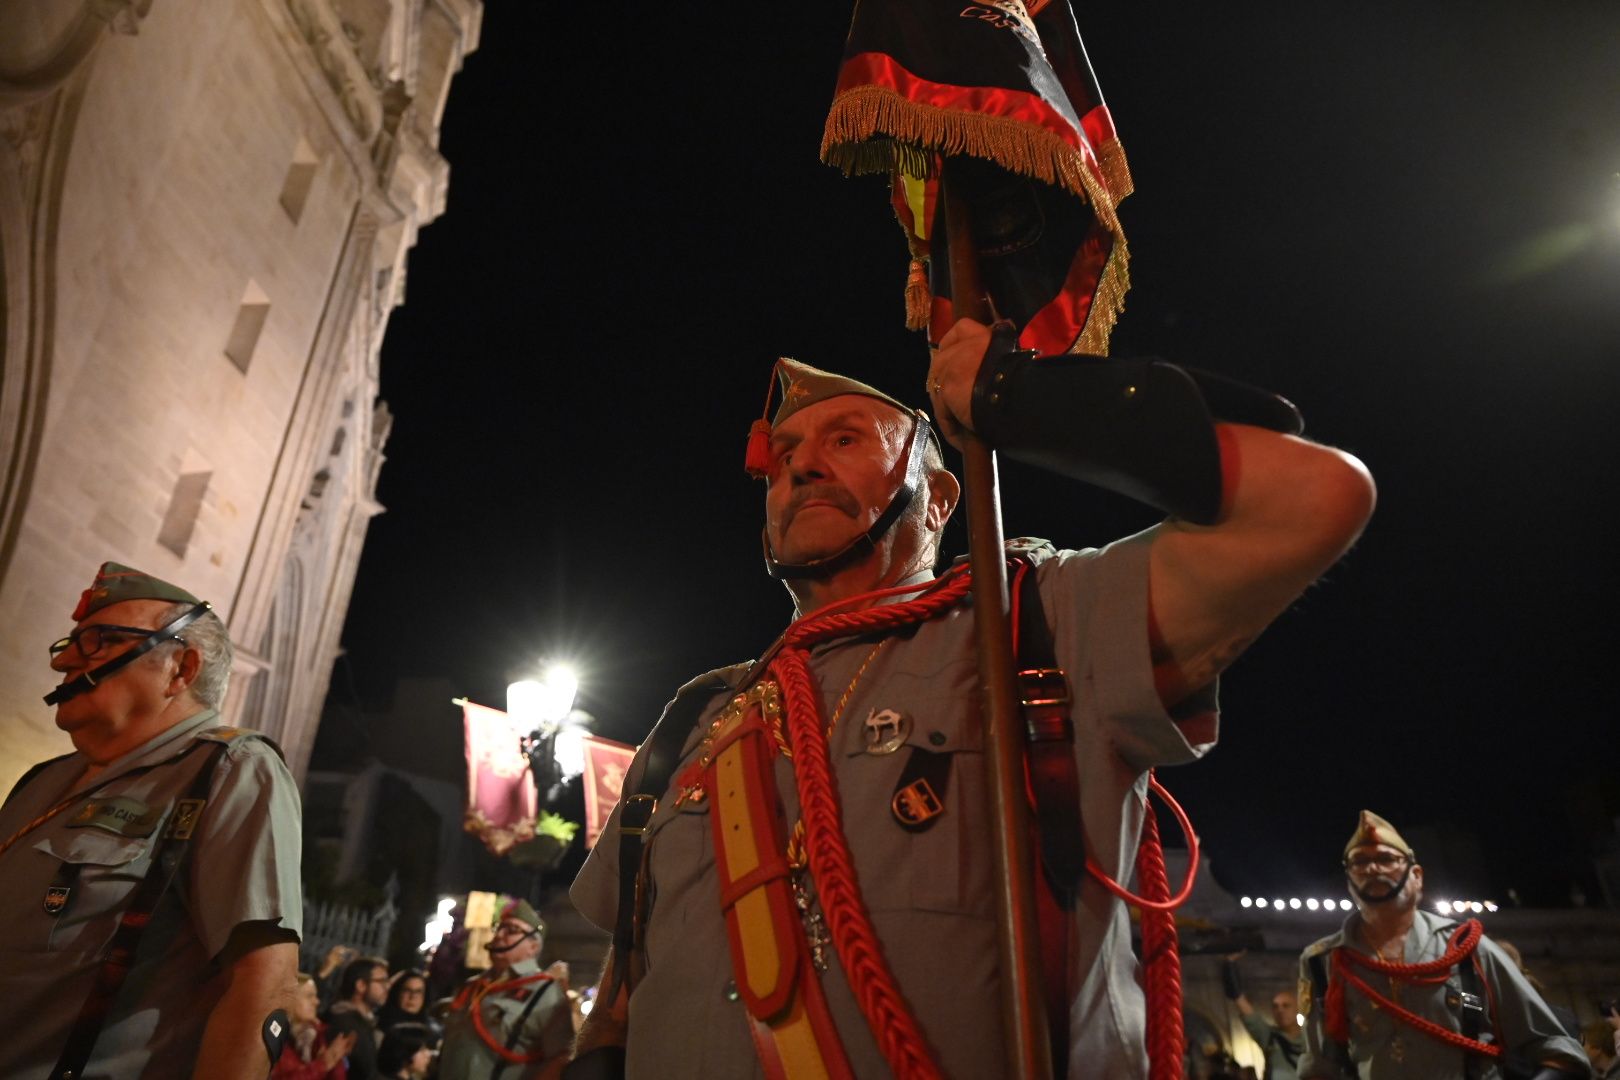
<instances>
[{"instance_id":1,"label":"khaki shirt of the small background man beside the crowd","mask_svg":"<svg viewBox=\"0 0 1620 1080\"><path fill-rule=\"evenodd\" d=\"M535 960L514 963L501 981L535 975ZM468 984L488 980L480 975ZM536 1001L535 996L539 996ZM541 1062L567 1056L573 1044L573 1009L562 983L530 983L501 994L484 994L480 1002L484 1030L501 1046L512 1043L517 1054L541 1054ZM522 1023L522 1030L518 1025ZM517 1040L512 1033L518 1031ZM473 1027L470 1009L452 1010L444 1018L444 1043L439 1048L439 1080L491 1080L492 1077L526 1075L538 1064L518 1065L502 1062ZM502 1067L504 1065L504 1067Z\"/></svg>"}]
</instances>

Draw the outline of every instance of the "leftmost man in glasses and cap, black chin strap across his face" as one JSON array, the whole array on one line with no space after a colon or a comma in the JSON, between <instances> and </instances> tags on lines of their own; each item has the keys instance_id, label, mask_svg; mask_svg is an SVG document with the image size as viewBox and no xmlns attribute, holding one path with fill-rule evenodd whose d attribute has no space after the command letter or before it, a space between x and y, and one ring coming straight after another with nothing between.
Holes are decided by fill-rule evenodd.
<instances>
[{"instance_id":1,"label":"leftmost man in glasses and cap, black chin strap across his face","mask_svg":"<svg viewBox=\"0 0 1620 1080\"><path fill-rule=\"evenodd\" d=\"M104 563L50 646L73 753L0 806L0 1075L262 1078L303 920L275 746L225 727L225 625Z\"/></svg>"}]
</instances>

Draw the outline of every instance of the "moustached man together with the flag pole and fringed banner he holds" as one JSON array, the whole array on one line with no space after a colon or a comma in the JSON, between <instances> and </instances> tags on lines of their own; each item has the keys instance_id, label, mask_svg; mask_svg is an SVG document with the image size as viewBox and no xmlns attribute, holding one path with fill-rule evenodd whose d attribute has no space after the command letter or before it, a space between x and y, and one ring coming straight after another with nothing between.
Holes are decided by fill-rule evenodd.
<instances>
[{"instance_id":1,"label":"moustached man together with the flag pole and fringed banner he holds","mask_svg":"<svg viewBox=\"0 0 1620 1080\"><path fill-rule=\"evenodd\" d=\"M617 1046L630 1077L1181 1074L1179 976L1150 962L1144 1002L1121 900L1134 868L1144 954L1173 962L1150 769L1213 745L1217 675L1374 491L1281 398L1048 355L1102 353L1126 285L1128 172L1071 34L1061 3L857 10L823 152L891 175L974 565L935 576L961 486L928 415L779 361L747 468L799 617L637 753L573 886L614 946L572 1069ZM985 293L995 325L962 317ZM1170 517L1003 551L987 447Z\"/></svg>"}]
</instances>

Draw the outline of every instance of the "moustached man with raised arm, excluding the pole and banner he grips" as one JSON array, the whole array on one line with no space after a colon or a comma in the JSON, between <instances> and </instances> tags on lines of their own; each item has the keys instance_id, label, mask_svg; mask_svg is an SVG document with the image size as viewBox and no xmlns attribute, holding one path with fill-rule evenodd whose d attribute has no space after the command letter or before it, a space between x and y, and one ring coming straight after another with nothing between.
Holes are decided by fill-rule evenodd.
<instances>
[{"instance_id":1,"label":"moustached man with raised arm, excluding the pole and banner he grips","mask_svg":"<svg viewBox=\"0 0 1620 1080\"><path fill-rule=\"evenodd\" d=\"M1019 546L1072 698L1072 847L1129 879L1147 771L1213 745L1217 675L1353 542L1372 484L1283 434L1298 415L1270 395L1212 423L1183 369L1025 363L1008 342L970 321L941 340L944 432L1173 515L1102 551ZM648 905L616 933L578 1059L622 1044L632 1080L1003 1075L972 607L961 573L935 580L959 486L920 411L808 364L778 376L748 468L768 568L805 617L761 662L684 687L642 746L572 891L604 929ZM643 792L666 745L671 779ZM1082 874L1061 920L1059 1074L1145 1075L1126 905Z\"/></svg>"}]
</instances>

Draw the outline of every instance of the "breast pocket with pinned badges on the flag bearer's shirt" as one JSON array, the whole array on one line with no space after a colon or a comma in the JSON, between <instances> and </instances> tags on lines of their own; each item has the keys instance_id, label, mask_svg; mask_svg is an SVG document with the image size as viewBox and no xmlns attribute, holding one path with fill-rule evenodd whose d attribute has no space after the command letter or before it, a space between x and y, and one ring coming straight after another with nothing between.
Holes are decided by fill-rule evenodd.
<instances>
[{"instance_id":1,"label":"breast pocket with pinned badges on the flag bearer's shirt","mask_svg":"<svg viewBox=\"0 0 1620 1080\"><path fill-rule=\"evenodd\" d=\"M839 785L873 910L990 912L983 735L964 678L956 693L944 674L850 717Z\"/></svg>"}]
</instances>

